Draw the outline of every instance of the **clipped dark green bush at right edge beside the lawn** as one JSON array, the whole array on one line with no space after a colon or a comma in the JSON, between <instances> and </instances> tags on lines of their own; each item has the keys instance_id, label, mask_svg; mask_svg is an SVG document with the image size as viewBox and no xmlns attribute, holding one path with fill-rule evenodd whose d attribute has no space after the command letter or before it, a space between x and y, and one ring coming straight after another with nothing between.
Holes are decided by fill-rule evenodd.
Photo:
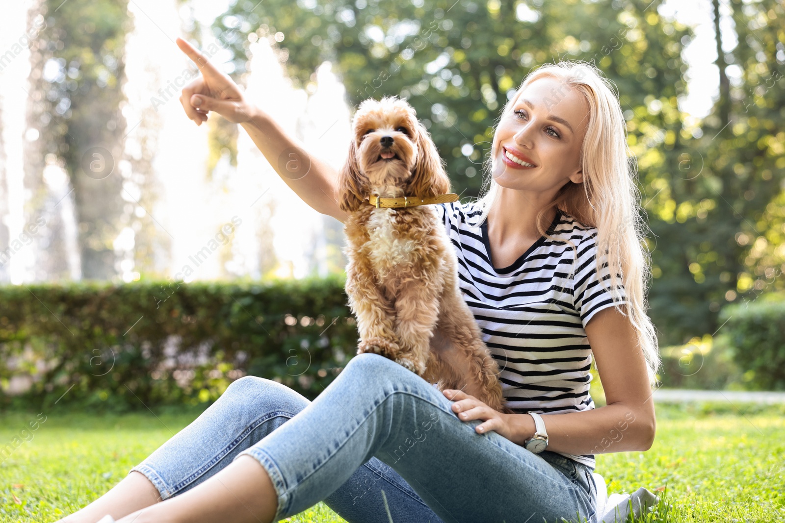
<instances>
[{"instance_id":1,"label":"clipped dark green bush at right edge beside the lawn","mask_svg":"<svg viewBox=\"0 0 785 523\"><path fill-rule=\"evenodd\" d=\"M736 364L760 390L785 390L785 296L725 307Z\"/></svg>"}]
</instances>

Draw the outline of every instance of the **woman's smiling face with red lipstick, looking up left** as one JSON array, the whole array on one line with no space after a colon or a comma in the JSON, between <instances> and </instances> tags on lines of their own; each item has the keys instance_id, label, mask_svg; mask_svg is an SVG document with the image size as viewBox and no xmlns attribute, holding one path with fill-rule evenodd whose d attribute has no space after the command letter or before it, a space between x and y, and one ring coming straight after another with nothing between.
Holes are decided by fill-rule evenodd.
<instances>
[{"instance_id":1,"label":"woman's smiling face with red lipstick, looking up left","mask_svg":"<svg viewBox=\"0 0 785 523\"><path fill-rule=\"evenodd\" d=\"M491 174L509 189L556 194L582 182L580 153L589 104L577 89L548 76L531 82L502 114L491 148Z\"/></svg>"}]
</instances>

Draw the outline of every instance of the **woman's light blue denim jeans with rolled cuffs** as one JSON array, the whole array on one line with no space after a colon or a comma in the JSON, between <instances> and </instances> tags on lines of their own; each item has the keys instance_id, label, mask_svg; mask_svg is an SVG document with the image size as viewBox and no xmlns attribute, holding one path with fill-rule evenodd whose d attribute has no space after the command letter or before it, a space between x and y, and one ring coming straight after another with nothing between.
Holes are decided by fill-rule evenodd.
<instances>
[{"instance_id":1,"label":"woman's light blue denim jeans with rolled cuffs","mask_svg":"<svg viewBox=\"0 0 785 523\"><path fill-rule=\"evenodd\" d=\"M454 402L378 354L352 358L312 402L246 376L132 470L167 499L253 456L276 488L273 521L323 500L350 523L597 523L590 467L477 434Z\"/></svg>"}]
</instances>

